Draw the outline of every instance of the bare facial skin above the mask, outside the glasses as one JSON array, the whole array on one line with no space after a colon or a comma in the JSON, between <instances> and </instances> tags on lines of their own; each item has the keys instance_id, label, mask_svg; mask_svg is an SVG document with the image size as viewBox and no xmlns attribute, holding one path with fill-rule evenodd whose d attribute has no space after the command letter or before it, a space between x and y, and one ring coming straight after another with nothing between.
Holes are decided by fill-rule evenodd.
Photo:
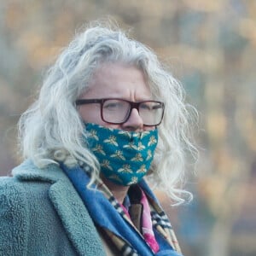
<instances>
[{"instance_id":1,"label":"bare facial skin above the mask, outside the glasses","mask_svg":"<svg viewBox=\"0 0 256 256\"><path fill-rule=\"evenodd\" d=\"M100 67L89 84L89 90L80 99L121 98L131 102L151 100L152 96L143 76L137 67L121 64L104 64ZM101 118L101 105L98 103L79 106L79 113L85 122L104 125L125 131L145 131L154 129L143 125L143 119L136 108L131 110L130 118L121 125L112 125Z\"/></svg>"}]
</instances>

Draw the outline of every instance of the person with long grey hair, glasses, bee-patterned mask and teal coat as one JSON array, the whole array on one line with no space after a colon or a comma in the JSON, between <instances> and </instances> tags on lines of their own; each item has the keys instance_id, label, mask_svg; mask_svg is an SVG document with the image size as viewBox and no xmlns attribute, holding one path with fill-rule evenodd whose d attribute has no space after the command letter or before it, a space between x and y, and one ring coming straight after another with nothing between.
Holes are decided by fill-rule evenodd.
<instances>
[{"instance_id":1,"label":"person with long grey hair, glasses, bee-patterned mask and teal coat","mask_svg":"<svg viewBox=\"0 0 256 256\"><path fill-rule=\"evenodd\" d=\"M0 180L1 255L182 255L172 203L189 137L183 87L118 27L88 26L20 117L24 162Z\"/></svg>"}]
</instances>

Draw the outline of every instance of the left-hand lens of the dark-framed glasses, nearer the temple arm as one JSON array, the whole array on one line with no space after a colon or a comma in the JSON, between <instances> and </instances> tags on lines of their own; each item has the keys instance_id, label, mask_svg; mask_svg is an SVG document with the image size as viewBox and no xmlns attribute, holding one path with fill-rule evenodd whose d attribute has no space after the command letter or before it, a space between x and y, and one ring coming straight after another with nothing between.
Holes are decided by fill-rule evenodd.
<instances>
[{"instance_id":1,"label":"left-hand lens of the dark-framed glasses, nearer the temple arm","mask_svg":"<svg viewBox=\"0 0 256 256\"><path fill-rule=\"evenodd\" d=\"M107 100L102 105L102 118L106 122L122 123L130 112L130 103L122 100Z\"/></svg>"}]
</instances>

